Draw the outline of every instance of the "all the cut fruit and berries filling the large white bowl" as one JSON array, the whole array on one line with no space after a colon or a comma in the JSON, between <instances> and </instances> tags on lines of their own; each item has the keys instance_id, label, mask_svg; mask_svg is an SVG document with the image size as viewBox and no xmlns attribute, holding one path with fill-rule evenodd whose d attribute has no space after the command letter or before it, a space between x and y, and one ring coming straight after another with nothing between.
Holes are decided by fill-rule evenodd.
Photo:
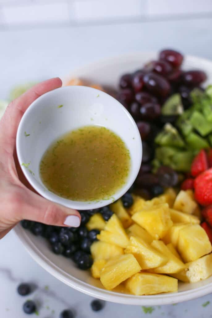
<instances>
[{"instance_id":1,"label":"all the cut fruit and berries filling the large white bowl","mask_svg":"<svg viewBox=\"0 0 212 318\"><path fill-rule=\"evenodd\" d=\"M206 74L183 71L182 63L180 52L163 50L158 60L120 77L115 96L135 119L143 145L138 177L123 197L80 211L79 228L21 222L102 288L177 292L179 281L212 275L212 86L202 88ZM114 96L82 79L65 85Z\"/></svg>"}]
</instances>

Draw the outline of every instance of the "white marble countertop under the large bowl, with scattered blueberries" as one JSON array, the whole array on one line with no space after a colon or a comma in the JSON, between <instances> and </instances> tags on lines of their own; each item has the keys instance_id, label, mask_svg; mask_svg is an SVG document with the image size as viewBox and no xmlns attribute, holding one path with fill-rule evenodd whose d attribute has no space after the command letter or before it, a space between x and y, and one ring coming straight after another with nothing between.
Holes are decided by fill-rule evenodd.
<instances>
[{"instance_id":1,"label":"white marble countertop under the large bowl, with scattered blueberries","mask_svg":"<svg viewBox=\"0 0 212 318\"><path fill-rule=\"evenodd\" d=\"M6 99L12 86L28 80L63 76L74 67L130 51L173 47L185 54L212 59L212 19L32 30L0 29L0 43L0 99ZM152 314L145 314L140 306L113 303L106 303L101 312L94 313L89 305L91 297L71 289L48 274L32 260L11 232L0 241L1 318L26 317L22 311L25 297L19 296L16 291L21 281L37 286L27 298L40 302L41 318L57 318L65 308L74 308L76 317L81 318L212 317L212 303L202 307L202 304L211 300L211 295L175 306L155 307Z\"/></svg>"}]
</instances>

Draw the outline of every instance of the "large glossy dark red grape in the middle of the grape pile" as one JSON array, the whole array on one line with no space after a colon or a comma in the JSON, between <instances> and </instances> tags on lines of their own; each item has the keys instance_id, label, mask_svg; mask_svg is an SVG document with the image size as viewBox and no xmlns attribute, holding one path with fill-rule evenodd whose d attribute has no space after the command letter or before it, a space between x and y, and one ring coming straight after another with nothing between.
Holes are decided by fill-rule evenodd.
<instances>
[{"instance_id":1,"label":"large glossy dark red grape in the middle of the grape pile","mask_svg":"<svg viewBox=\"0 0 212 318\"><path fill-rule=\"evenodd\" d=\"M161 97L168 95L170 84L164 77L155 73L147 73L144 75L143 80L150 93Z\"/></svg>"}]
</instances>

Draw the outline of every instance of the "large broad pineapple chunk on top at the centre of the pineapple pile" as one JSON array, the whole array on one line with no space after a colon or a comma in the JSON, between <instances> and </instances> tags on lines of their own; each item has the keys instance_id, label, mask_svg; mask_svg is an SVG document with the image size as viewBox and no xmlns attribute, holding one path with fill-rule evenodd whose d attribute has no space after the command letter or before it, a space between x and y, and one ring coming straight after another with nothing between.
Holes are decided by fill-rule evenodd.
<instances>
[{"instance_id":1,"label":"large broad pineapple chunk on top at the centre of the pineapple pile","mask_svg":"<svg viewBox=\"0 0 212 318\"><path fill-rule=\"evenodd\" d=\"M173 225L167 203L143 209L135 213L132 220L145 228L154 239L163 238Z\"/></svg>"}]
</instances>

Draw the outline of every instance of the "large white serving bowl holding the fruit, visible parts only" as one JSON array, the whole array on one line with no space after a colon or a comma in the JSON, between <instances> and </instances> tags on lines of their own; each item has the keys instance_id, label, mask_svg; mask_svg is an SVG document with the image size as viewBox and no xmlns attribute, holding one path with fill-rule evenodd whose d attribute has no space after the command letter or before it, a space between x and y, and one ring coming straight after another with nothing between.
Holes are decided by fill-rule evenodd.
<instances>
[{"instance_id":1,"label":"large white serving bowl holding the fruit, visible parts only","mask_svg":"<svg viewBox=\"0 0 212 318\"><path fill-rule=\"evenodd\" d=\"M132 53L104 59L82 67L70 74L71 77L81 77L102 85L117 86L118 78L122 73L132 72L140 68L150 59L155 59L156 53ZM187 56L183 63L184 69L199 68L208 75L212 83L212 62L198 57ZM198 283L179 283L178 293L158 294L152 296L133 296L107 291L101 288L98 280L91 277L89 271L77 269L70 259L57 256L51 252L45 239L32 235L29 231L17 225L15 232L26 249L43 268L65 284L90 296L106 301L130 305L164 305L188 301L212 292L212 277Z\"/></svg>"}]
</instances>

